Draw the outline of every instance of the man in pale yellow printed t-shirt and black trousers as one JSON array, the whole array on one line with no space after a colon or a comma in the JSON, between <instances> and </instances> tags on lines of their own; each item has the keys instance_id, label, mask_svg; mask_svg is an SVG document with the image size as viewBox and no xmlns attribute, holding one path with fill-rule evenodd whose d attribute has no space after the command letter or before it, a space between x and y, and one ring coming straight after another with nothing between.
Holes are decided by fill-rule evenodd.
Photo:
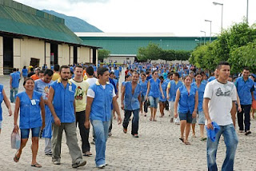
<instances>
[{"instance_id":1,"label":"man in pale yellow printed t-shirt and black trousers","mask_svg":"<svg viewBox=\"0 0 256 171\"><path fill-rule=\"evenodd\" d=\"M89 88L89 83L84 81L82 78L82 66L74 67L74 78L70 82L77 86L75 89L74 101L75 101L75 117L76 125L79 127L80 137L82 139L82 153L84 156L90 156L90 143L89 133L90 129L86 129L86 94Z\"/></svg>"}]
</instances>

